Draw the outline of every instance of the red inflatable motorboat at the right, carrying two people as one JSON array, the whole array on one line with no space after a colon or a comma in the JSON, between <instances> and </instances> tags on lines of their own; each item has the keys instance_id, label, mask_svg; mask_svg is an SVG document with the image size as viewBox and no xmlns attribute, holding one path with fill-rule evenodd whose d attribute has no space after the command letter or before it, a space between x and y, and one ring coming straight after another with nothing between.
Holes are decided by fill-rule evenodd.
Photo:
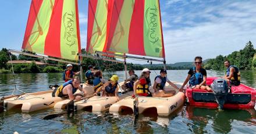
<instances>
[{"instance_id":1,"label":"red inflatable motorboat at the right, carrying two people","mask_svg":"<svg viewBox=\"0 0 256 134\"><path fill-rule=\"evenodd\" d=\"M218 84L218 78L207 78L207 85L211 85L213 82ZM218 87L223 88L222 85L218 85ZM219 97L218 95L220 93L218 93L218 91L216 92L214 89L214 92L207 92L207 90L191 89L190 87L187 87L186 96L189 104L196 107L221 107L229 109L254 108L256 99L256 90L254 88L250 88L243 84L240 84L239 86L227 85L227 88L228 91L222 93L223 95Z\"/></svg>"}]
</instances>

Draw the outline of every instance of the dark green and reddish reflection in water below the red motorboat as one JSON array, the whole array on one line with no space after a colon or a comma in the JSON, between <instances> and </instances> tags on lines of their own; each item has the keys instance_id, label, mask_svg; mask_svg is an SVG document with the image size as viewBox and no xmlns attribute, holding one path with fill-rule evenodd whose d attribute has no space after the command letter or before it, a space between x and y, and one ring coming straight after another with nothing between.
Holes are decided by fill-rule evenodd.
<instances>
[{"instance_id":1,"label":"dark green and reddish reflection in water below the red motorboat","mask_svg":"<svg viewBox=\"0 0 256 134\"><path fill-rule=\"evenodd\" d=\"M229 133L232 131L233 122L250 122L250 119L255 118L255 110L219 111L187 106L186 115L193 122L193 124L189 125L193 133L207 133L209 125L213 128L214 133Z\"/></svg>"}]
</instances>

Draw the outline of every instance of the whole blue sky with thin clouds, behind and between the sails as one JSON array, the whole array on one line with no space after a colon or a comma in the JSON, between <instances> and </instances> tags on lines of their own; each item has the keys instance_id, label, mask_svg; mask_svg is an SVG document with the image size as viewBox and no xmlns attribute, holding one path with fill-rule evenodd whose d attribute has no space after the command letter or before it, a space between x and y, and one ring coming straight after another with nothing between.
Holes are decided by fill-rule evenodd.
<instances>
[{"instance_id":1,"label":"whole blue sky with thin clouds, behind and between the sails","mask_svg":"<svg viewBox=\"0 0 256 134\"><path fill-rule=\"evenodd\" d=\"M0 49L20 50L31 1L0 1ZM78 2L81 48L86 48L88 1ZM243 49L248 41L256 46L255 0L160 0L160 5L166 63L226 56Z\"/></svg>"}]
</instances>

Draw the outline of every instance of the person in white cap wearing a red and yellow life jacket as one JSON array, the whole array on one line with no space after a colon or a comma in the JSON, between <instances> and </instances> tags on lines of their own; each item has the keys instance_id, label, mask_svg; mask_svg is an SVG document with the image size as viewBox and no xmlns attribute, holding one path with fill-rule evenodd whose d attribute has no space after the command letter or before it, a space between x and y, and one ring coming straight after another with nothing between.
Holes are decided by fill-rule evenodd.
<instances>
[{"instance_id":1,"label":"person in white cap wearing a red and yellow life jacket","mask_svg":"<svg viewBox=\"0 0 256 134\"><path fill-rule=\"evenodd\" d=\"M152 96L149 90L151 86L150 73L148 68L142 70L140 78L133 85L134 96Z\"/></svg>"}]
</instances>

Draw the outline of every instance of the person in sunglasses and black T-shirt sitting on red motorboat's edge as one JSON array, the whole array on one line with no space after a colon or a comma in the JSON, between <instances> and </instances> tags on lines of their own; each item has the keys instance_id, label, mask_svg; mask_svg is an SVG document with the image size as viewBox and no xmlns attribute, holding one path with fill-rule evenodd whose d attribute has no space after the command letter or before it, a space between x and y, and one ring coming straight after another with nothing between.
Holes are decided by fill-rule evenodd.
<instances>
[{"instance_id":1,"label":"person in sunglasses and black T-shirt sitting on red motorboat's edge","mask_svg":"<svg viewBox=\"0 0 256 134\"><path fill-rule=\"evenodd\" d=\"M208 92L211 91L211 88L205 85L206 79L207 79L207 72L204 68L201 67L202 57L201 56L195 57L194 64L195 64L195 67L190 68L187 78L185 79L182 87L179 90L182 91L184 86L189 81L191 88L203 89L203 90L207 90Z\"/></svg>"}]
</instances>

